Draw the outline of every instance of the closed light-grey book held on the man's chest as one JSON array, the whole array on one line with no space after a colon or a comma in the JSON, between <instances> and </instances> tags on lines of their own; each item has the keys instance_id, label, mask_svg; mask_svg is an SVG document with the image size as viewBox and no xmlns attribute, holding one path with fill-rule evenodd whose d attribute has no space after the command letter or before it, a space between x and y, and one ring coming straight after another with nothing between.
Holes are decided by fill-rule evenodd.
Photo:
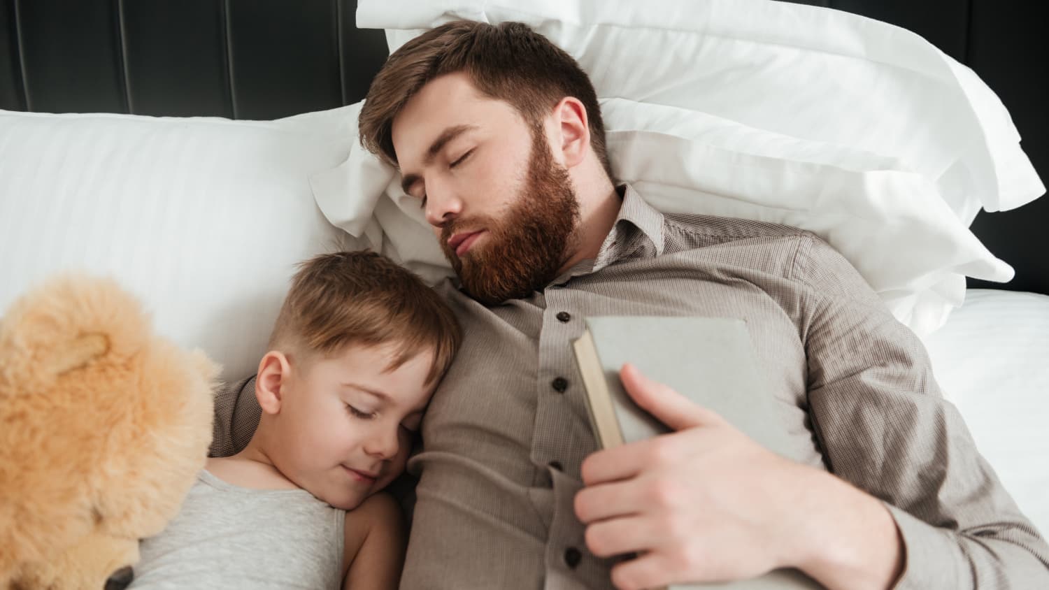
<instances>
[{"instance_id":1,"label":"closed light-grey book held on the man's chest","mask_svg":"<svg viewBox=\"0 0 1049 590\"><path fill-rule=\"evenodd\" d=\"M619 379L625 363L708 408L766 449L786 455L789 438L763 378L747 324L734 318L598 316L573 343L586 407L603 449L670 429L630 399ZM821 586L796 569L723 584L673 585L670 590L789 590Z\"/></svg>"}]
</instances>

